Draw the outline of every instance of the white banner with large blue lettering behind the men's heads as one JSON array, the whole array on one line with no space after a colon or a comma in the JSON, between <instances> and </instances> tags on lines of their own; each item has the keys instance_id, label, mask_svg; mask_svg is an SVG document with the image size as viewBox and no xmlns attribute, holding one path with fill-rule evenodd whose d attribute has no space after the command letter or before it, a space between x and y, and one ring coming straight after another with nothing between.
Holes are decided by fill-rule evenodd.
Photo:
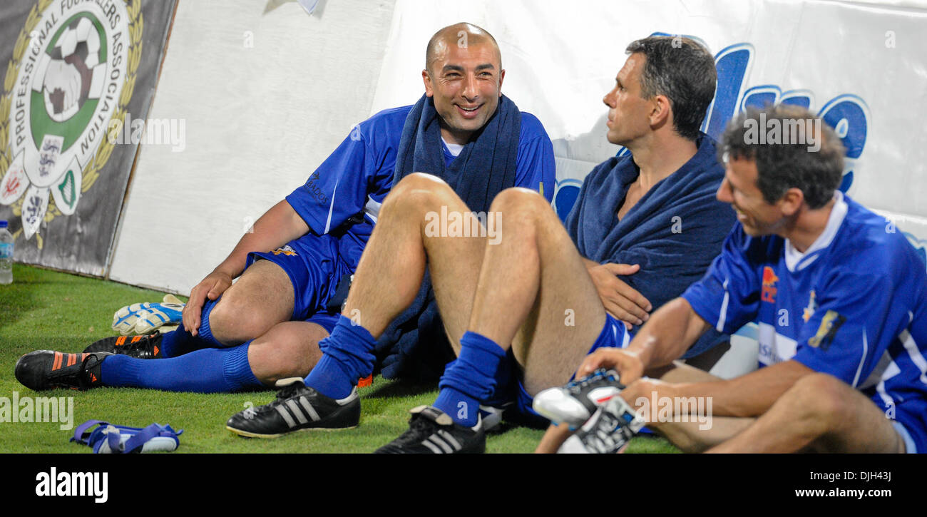
<instances>
[{"instance_id":1,"label":"white banner with large blue lettering behind the men's heads","mask_svg":"<svg viewBox=\"0 0 927 517\"><path fill-rule=\"evenodd\" d=\"M810 108L844 140L841 188L889 217L889 231L908 233L923 254L927 10L922 3L900 4L398 0L374 111L420 94L421 49L433 32L461 20L480 25L502 47L502 91L537 115L553 140L554 205L565 217L585 174L618 151L605 140L602 98L627 44L654 33L691 36L717 62L705 132L717 137L746 106Z\"/></svg>"}]
</instances>

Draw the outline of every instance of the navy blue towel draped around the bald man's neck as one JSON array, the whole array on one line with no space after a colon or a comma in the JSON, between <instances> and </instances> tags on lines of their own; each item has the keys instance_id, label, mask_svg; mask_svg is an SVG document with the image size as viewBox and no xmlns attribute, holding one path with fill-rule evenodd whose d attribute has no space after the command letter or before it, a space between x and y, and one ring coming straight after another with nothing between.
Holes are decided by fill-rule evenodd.
<instances>
[{"instance_id":1,"label":"navy blue towel draped around the bald man's neck","mask_svg":"<svg viewBox=\"0 0 927 517\"><path fill-rule=\"evenodd\" d=\"M492 199L515 184L520 133L521 112L502 95L486 125L445 166L438 112L434 100L422 95L402 127L393 184L413 172L434 174L450 184L467 207L489 211ZM453 359L446 342L431 277L425 271L412 306L393 320L377 340L375 353L380 373L387 379L437 378L444 363Z\"/></svg>"}]
</instances>

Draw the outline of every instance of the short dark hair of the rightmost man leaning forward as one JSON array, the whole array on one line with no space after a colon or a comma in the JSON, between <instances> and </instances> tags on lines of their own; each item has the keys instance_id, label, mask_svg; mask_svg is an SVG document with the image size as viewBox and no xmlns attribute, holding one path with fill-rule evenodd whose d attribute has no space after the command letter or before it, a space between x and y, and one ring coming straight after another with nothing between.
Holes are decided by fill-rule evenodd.
<instances>
[{"instance_id":1,"label":"short dark hair of the rightmost man leaning forward","mask_svg":"<svg viewBox=\"0 0 927 517\"><path fill-rule=\"evenodd\" d=\"M756 131L767 131L770 120L779 120L776 124L781 135L775 142L764 138L760 144ZM799 134L805 137L796 138ZM817 150L811 148L818 146ZM783 104L763 109L748 107L730 120L717 153L722 161L755 160L756 186L767 203L775 203L785 191L797 188L805 195L809 208L821 208L831 200L844 176L845 150L840 137L804 107Z\"/></svg>"}]
</instances>

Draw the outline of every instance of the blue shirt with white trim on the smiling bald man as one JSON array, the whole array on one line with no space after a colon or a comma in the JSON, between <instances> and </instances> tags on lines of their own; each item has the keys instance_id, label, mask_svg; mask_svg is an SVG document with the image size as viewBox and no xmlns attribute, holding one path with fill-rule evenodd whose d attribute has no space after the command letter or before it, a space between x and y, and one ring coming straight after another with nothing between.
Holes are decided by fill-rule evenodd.
<instances>
[{"instance_id":1,"label":"blue shirt with white trim on the smiling bald man","mask_svg":"<svg viewBox=\"0 0 927 517\"><path fill-rule=\"evenodd\" d=\"M286 201L317 234L343 233L340 255L351 267L361 259L377 213L393 183L402 127L412 106L380 111L358 124L309 180ZM455 158L443 145L445 164ZM515 186L540 191L550 202L556 184L553 145L540 120L521 112ZM363 213L363 218L352 217ZM348 224L346 224L348 223Z\"/></svg>"}]
</instances>

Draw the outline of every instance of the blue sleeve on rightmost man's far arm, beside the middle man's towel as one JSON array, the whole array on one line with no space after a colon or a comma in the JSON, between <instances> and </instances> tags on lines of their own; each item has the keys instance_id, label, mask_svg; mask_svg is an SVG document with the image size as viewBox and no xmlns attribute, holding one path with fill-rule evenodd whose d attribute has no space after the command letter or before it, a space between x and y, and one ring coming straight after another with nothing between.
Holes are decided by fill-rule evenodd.
<instances>
[{"instance_id":1,"label":"blue sleeve on rightmost man's far arm, beside the middle man's towel","mask_svg":"<svg viewBox=\"0 0 927 517\"><path fill-rule=\"evenodd\" d=\"M735 224L705 277L682 293L695 313L717 332L733 334L756 319L760 279L747 259L746 248L751 242L740 223Z\"/></svg>"}]
</instances>

